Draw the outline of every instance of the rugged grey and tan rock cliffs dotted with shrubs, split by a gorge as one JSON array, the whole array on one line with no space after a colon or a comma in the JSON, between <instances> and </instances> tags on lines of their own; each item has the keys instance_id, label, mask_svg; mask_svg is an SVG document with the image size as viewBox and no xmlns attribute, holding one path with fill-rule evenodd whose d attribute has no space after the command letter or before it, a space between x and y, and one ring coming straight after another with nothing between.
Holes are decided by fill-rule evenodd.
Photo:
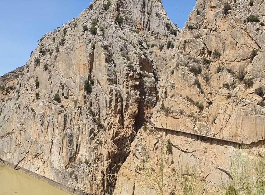
<instances>
[{"instance_id":1,"label":"rugged grey and tan rock cliffs dotted with shrubs, split by a gorge","mask_svg":"<svg viewBox=\"0 0 265 195\"><path fill-rule=\"evenodd\" d=\"M93 1L39 40L3 96L0 158L75 193L111 193L117 173L116 194L153 195L136 165L163 157L168 173L198 165L216 194L240 147L143 125L264 140L264 23L263 0L197 0L182 30L160 0ZM174 179L163 189L182 194Z\"/></svg>"}]
</instances>

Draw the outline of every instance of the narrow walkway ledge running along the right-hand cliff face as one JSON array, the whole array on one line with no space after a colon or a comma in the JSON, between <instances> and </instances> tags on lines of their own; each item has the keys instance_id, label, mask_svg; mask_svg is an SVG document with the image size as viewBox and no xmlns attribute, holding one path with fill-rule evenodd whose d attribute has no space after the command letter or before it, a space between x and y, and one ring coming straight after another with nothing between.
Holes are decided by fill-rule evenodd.
<instances>
[{"instance_id":1,"label":"narrow walkway ledge running along the right-hand cliff face","mask_svg":"<svg viewBox=\"0 0 265 195\"><path fill-rule=\"evenodd\" d=\"M244 139L241 141L238 140L231 140L229 138L225 139L225 138L215 138L212 136L207 136L207 135L203 135L203 134L196 134L196 133L190 133L190 132L186 132L186 131L181 131L181 130L174 130L174 129L166 129L166 128L162 128L162 127L154 127L154 126L150 126L153 129L157 129L157 130L162 130L162 131L176 131L176 132L181 132L184 134L189 134L189 135L195 135L195 136L199 136L201 138L207 138L207 139L212 139L212 140L217 140L217 141L226 141L226 142L230 142L230 143L234 143L234 144L243 144L243 145L252 145L252 144L257 144L260 141L264 141L264 138L261 137L260 139L254 139L254 140L248 140L248 139Z\"/></svg>"}]
</instances>

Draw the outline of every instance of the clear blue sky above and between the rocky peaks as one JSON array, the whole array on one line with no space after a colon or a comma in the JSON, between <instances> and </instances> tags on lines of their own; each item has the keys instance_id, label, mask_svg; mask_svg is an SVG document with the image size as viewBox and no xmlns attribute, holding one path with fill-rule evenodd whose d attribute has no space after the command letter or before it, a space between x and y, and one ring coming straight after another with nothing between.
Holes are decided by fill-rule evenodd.
<instances>
[{"instance_id":1,"label":"clear blue sky above and between the rocky peaks","mask_svg":"<svg viewBox=\"0 0 265 195\"><path fill-rule=\"evenodd\" d=\"M26 64L43 34L77 17L90 0L0 0L0 75ZM182 28L195 0L162 0Z\"/></svg>"}]
</instances>

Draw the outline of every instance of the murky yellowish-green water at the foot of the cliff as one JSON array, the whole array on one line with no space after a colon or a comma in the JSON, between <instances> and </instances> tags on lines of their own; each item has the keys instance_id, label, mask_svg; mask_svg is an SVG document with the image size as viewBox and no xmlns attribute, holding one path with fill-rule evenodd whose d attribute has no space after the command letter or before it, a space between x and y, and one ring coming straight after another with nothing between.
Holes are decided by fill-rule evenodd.
<instances>
[{"instance_id":1,"label":"murky yellowish-green water at the foot of the cliff","mask_svg":"<svg viewBox=\"0 0 265 195\"><path fill-rule=\"evenodd\" d=\"M70 195L0 163L0 195Z\"/></svg>"}]
</instances>

